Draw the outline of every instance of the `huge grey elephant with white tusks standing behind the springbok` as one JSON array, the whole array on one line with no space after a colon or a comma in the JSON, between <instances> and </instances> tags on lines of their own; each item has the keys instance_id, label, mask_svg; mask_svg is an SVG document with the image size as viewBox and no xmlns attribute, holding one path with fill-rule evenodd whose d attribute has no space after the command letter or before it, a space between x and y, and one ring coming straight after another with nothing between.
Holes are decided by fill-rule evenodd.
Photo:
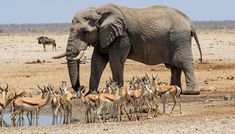
<instances>
[{"instance_id":1,"label":"huge grey elephant with white tusks standing behind the springbok","mask_svg":"<svg viewBox=\"0 0 235 134\"><path fill-rule=\"evenodd\" d=\"M170 84L180 88L184 72L183 94L196 95L200 90L194 75L192 37L202 61L196 30L184 13L166 6L135 9L107 4L78 11L72 20L66 51L52 58L66 57L75 91L80 90L79 60L92 46L89 93L98 90L107 63L114 81L123 86L124 63L132 59L147 65L165 64L171 69Z\"/></svg>"}]
</instances>

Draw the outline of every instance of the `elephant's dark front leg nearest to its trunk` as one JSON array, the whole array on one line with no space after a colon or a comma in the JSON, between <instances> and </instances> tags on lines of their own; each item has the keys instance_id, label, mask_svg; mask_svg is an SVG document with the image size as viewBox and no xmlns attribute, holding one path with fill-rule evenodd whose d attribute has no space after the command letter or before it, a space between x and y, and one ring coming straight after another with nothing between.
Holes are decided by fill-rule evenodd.
<instances>
[{"instance_id":1,"label":"elephant's dark front leg nearest to its trunk","mask_svg":"<svg viewBox=\"0 0 235 134\"><path fill-rule=\"evenodd\" d=\"M108 63L107 59L108 58L106 57L106 55L101 54L97 50L97 48L94 48L92 58L91 58L91 75L90 75L90 83L89 83L89 86L90 86L89 92L98 90L100 77Z\"/></svg>"}]
</instances>

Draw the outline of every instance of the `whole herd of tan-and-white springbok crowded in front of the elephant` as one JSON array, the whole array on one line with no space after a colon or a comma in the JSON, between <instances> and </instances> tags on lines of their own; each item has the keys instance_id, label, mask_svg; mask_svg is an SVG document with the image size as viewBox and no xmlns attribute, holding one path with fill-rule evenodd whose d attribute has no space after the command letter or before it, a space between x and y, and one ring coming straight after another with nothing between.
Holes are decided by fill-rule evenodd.
<instances>
[{"instance_id":1,"label":"whole herd of tan-and-white springbok crowded in front of the elephant","mask_svg":"<svg viewBox=\"0 0 235 134\"><path fill-rule=\"evenodd\" d=\"M106 120L122 121L124 117L129 120L139 120L143 113L147 118L156 117L159 113L160 97L163 105L163 113L166 109L166 99L173 99L174 110L176 102L179 102L181 113L181 89L175 85L158 82L158 75L150 78L147 74L143 77L133 77L128 86L119 86L111 78L106 81L106 87L99 93L88 94L89 89L82 86L79 92L68 88L65 81L60 87L52 85L40 87L39 95L34 95L30 89L9 90L8 84L0 83L0 123L4 126L4 109L10 106L10 118L13 126L23 126L24 117L27 117L29 125L38 125L40 109L51 104L52 124L69 124L72 119L72 105L78 98L85 106L85 121L87 123ZM26 116L25 116L26 115ZM122 117L124 116L124 117ZM17 118L18 117L18 118ZM17 120L18 119L18 120Z\"/></svg>"}]
</instances>

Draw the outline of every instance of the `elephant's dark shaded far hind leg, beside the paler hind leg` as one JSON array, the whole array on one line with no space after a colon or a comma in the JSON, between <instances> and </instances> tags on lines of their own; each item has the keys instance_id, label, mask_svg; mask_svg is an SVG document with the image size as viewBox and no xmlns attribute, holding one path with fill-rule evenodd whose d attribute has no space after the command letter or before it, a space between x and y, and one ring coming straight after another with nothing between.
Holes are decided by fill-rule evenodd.
<instances>
[{"instance_id":1,"label":"elephant's dark shaded far hind leg, beside the paler hind leg","mask_svg":"<svg viewBox=\"0 0 235 134\"><path fill-rule=\"evenodd\" d=\"M171 68L171 85L177 85L181 88L181 73L182 70L179 68L172 67Z\"/></svg>"}]
</instances>

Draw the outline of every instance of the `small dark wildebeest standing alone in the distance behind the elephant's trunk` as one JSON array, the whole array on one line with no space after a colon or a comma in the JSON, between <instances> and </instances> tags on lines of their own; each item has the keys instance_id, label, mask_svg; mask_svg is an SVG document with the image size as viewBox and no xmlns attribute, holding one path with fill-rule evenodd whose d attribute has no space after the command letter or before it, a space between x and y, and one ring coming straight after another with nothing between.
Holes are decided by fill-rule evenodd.
<instances>
[{"instance_id":1,"label":"small dark wildebeest standing alone in the distance behind the elephant's trunk","mask_svg":"<svg viewBox=\"0 0 235 134\"><path fill-rule=\"evenodd\" d=\"M38 44L43 44L44 52L46 52L46 45L52 45L52 51L55 49L56 51L56 43L54 39L41 36L37 38Z\"/></svg>"}]
</instances>

